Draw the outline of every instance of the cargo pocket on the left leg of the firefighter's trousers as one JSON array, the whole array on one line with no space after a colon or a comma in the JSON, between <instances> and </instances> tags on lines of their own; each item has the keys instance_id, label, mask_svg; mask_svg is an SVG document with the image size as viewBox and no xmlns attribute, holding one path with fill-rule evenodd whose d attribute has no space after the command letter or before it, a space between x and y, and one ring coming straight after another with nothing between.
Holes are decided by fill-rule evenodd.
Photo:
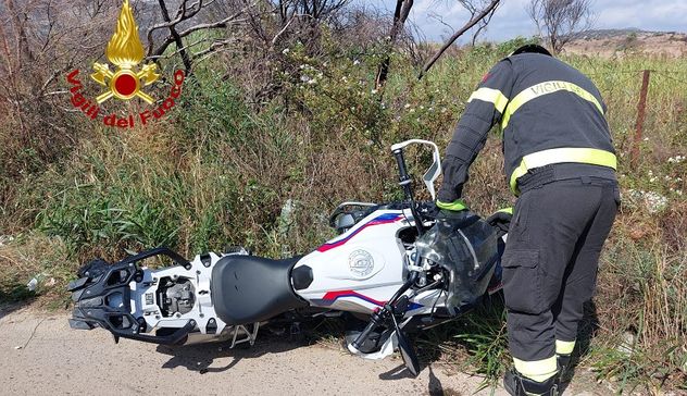
<instances>
[{"instance_id":1,"label":"cargo pocket on the left leg of the firefighter's trousers","mask_svg":"<svg viewBox=\"0 0 687 396\"><path fill-rule=\"evenodd\" d=\"M539 250L505 250L502 259L503 293L509 310L541 312Z\"/></svg>"}]
</instances>

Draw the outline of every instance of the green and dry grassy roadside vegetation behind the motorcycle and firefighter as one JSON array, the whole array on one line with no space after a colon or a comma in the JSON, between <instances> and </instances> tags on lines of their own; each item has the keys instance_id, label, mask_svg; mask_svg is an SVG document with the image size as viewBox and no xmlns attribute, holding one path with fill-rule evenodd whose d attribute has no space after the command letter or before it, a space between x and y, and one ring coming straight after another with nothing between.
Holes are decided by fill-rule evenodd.
<instances>
[{"instance_id":1,"label":"green and dry grassy roadside vegetation behind the motorcycle and firefighter","mask_svg":"<svg viewBox=\"0 0 687 396\"><path fill-rule=\"evenodd\" d=\"M284 44L261 73L240 69L249 62L229 54L197 64L174 111L146 127L91 123L62 110L68 96L42 102L48 110L34 114L42 122L5 106L0 300L64 309L64 286L84 261L161 245L187 257L229 245L275 258L308 252L334 235L326 223L338 202L400 199L390 145L424 138L445 148L477 82L525 41L451 49L421 81L415 55L432 48L396 51L386 85L377 87L387 47L323 29L316 51ZM623 193L582 330L579 367L616 389L685 389L687 59L563 59L587 73L607 101ZM174 63L161 64L172 75ZM645 69L654 72L630 166ZM64 78L59 84L66 86ZM513 200L500 151L495 131L464 194L484 215ZM28 292L34 277L37 288ZM509 359L502 305L497 298L485 310L423 335L423 350L498 378Z\"/></svg>"}]
</instances>

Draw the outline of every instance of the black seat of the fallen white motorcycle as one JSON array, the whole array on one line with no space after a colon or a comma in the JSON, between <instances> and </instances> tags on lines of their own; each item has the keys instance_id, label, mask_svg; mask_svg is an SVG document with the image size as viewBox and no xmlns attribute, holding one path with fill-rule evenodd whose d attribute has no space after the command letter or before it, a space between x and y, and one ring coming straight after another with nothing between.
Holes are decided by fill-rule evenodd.
<instances>
[{"instance_id":1,"label":"black seat of the fallen white motorcycle","mask_svg":"<svg viewBox=\"0 0 687 396\"><path fill-rule=\"evenodd\" d=\"M217 317L229 325L248 324L307 307L291 287L291 270L298 259L222 258L212 269L212 302Z\"/></svg>"}]
</instances>

